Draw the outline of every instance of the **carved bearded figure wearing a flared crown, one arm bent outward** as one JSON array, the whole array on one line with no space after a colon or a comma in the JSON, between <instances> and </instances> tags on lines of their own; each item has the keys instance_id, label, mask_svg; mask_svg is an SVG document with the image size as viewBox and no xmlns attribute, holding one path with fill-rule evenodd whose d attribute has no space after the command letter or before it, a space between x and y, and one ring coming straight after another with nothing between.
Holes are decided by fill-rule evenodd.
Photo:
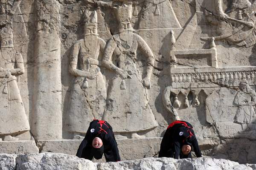
<instances>
[{"instance_id":1,"label":"carved bearded figure wearing a flared crown, one arm bent outward","mask_svg":"<svg viewBox=\"0 0 256 170\"><path fill-rule=\"evenodd\" d=\"M148 104L146 89L151 85L154 55L131 26L132 3L119 2L113 6L113 11L119 23L119 34L113 35L108 41L102 65L115 71L116 77L109 85L103 119L113 125L113 130L121 136L142 138L144 136L138 132L143 134L158 125ZM137 49L147 58L145 78L139 71ZM115 65L112 62L113 54L117 58Z\"/></svg>"}]
</instances>

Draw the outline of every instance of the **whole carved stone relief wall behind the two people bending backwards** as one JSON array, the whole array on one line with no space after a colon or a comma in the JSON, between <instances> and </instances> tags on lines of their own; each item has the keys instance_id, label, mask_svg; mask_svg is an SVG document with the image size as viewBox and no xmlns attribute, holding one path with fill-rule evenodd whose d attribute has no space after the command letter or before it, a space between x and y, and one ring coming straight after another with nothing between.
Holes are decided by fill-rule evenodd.
<instances>
[{"instance_id":1,"label":"whole carved stone relief wall behind the two people bending backwards","mask_svg":"<svg viewBox=\"0 0 256 170\"><path fill-rule=\"evenodd\" d=\"M0 0L0 153L74 155L96 118L140 159L184 120L256 163L256 0L230 2Z\"/></svg>"}]
</instances>

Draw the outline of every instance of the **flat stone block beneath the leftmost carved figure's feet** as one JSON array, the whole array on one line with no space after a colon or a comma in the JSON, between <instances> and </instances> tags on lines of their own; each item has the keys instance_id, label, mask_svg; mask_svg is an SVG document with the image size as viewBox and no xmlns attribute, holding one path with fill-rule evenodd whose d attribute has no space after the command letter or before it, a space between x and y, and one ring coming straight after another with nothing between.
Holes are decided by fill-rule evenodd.
<instances>
[{"instance_id":1,"label":"flat stone block beneath the leftmost carved figure's feet","mask_svg":"<svg viewBox=\"0 0 256 170\"><path fill-rule=\"evenodd\" d=\"M0 142L0 153L22 154L38 153L35 141Z\"/></svg>"}]
</instances>

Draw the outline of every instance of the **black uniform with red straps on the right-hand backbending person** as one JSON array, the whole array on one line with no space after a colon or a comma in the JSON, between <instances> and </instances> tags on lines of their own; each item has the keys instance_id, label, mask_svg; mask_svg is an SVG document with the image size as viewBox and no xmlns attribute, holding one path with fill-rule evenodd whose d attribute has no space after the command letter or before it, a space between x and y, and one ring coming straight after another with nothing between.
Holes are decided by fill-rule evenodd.
<instances>
[{"instance_id":1,"label":"black uniform with red straps on the right-hand backbending person","mask_svg":"<svg viewBox=\"0 0 256 170\"><path fill-rule=\"evenodd\" d=\"M191 152L188 155L184 155L181 152L181 147L184 144L193 146L195 155L201 157L201 151L198 147L198 141L195 137L194 130L189 122L175 121L168 127L163 136L159 157L169 157L175 159L192 158Z\"/></svg>"}]
</instances>

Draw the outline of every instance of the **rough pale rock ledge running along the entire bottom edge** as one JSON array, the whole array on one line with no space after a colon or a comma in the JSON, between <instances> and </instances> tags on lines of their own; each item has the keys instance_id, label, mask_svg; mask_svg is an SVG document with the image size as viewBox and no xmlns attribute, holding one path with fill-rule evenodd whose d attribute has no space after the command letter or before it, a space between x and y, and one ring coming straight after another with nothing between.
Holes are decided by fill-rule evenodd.
<instances>
[{"instance_id":1,"label":"rough pale rock ledge running along the entire bottom edge","mask_svg":"<svg viewBox=\"0 0 256 170\"><path fill-rule=\"evenodd\" d=\"M60 153L26 155L0 154L1 170L255 170L256 164L239 164L226 159L145 158L134 161L93 163Z\"/></svg>"}]
</instances>

